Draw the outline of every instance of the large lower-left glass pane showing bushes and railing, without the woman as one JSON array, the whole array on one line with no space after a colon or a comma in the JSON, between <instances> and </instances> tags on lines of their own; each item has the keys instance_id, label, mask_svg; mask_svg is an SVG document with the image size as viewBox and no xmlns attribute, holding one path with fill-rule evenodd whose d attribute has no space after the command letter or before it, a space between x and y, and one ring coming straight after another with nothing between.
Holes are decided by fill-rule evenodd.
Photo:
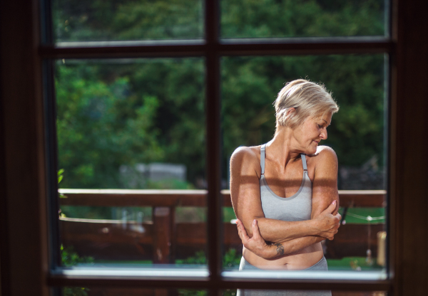
<instances>
[{"instance_id":1,"label":"large lower-left glass pane showing bushes and railing, without the woman","mask_svg":"<svg viewBox=\"0 0 428 296\"><path fill-rule=\"evenodd\" d=\"M61 254L205 265L203 59L57 60Z\"/></svg>"}]
</instances>

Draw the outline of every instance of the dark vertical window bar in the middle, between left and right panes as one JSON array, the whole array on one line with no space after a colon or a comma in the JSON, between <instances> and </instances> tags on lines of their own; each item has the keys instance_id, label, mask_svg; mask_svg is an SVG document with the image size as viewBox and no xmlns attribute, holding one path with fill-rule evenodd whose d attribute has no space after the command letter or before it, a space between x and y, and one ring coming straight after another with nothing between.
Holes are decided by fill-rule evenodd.
<instances>
[{"instance_id":1,"label":"dark vertical window bar in the middle, between left and right panes","mask_svg":"<svg viewBox=\"0 0 428 296\"><path fill-rule=\"evenodd\" d=\"M221 201L220 201L220 60L218 56L218 0L205 0L206 139L208 183L208 268L210 279L220 280Z\"/></svg>"}]
</instances>

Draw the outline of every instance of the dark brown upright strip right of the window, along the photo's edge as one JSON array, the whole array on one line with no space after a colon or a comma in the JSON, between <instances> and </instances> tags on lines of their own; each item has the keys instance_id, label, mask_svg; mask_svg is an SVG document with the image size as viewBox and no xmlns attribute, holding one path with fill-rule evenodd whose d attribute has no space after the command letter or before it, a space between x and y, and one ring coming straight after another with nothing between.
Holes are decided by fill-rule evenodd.
<instances>
[{"instance_id":1,"label":"dark brown upright strip right of the window, along the photo's edge","mask_svg":"<svg viewBox=\"0 0 428 296\"><path fill-rule=\"evenodd\" d=\"M426 295L428 2L397 1L392 96L392 234L398 295Z\"/></svg>"}]
</instances>

